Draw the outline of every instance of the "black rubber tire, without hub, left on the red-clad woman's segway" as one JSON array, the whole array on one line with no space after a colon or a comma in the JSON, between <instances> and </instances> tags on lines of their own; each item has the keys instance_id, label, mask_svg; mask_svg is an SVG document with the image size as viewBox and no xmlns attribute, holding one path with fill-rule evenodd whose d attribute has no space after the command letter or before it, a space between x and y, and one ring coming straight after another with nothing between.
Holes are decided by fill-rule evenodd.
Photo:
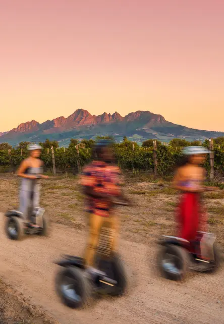
<instances>
[{"instance_id":1,"label":"black rubber tire, without hub, left on the red-clad woman's segway","mask_svg":"<svg viewBox=\"0 0 224 324\"><path fill-rule=\"evenodd\" d=\"M167 269L164 268L163 260L165 259L166 254L172 254L177 258L177 267L179 269L178 273L169 272L167 271ZM179 281L183 280L186 276L189 266L189 256L187 251L182 247L173 244L167 244L166 246L163 246L160 250L157 262L162 277L170 280Z\"/></svg>"}]
</instances>

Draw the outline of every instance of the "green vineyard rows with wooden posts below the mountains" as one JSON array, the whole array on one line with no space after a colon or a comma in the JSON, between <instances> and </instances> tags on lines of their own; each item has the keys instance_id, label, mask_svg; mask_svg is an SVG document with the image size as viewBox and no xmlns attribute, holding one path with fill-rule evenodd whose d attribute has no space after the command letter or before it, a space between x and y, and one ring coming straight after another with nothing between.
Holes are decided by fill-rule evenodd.
<instances>
[{"instance_id":1,"label":"green vineyard rows with wooden posts below the mountains","mask_svg":"<svg viewBox=\"0 0 224 324\"><path fill-rule=\"evenodd\" d=\"M156 170L158 176L169 176L183 158L181 148L186 144L189 145L188 142L183 141L179 143L173 141L169 145L162 145L157 142L157 146L154 144L155 141L146 142L148 145L139 146L137 143L124 139L122 143L113 145L117 162L123 170L132 170L133 172L147 170L152 173ZM68 148L59 147L59 143L56 141L46 140L44 143L40 143L43 147L41 159L44 161L45 171L53 170L53 150L57 172L72 172L74 174L79 172L83 166L91 161L93 144L92 140L83 140L78 143L74 139L71 139ZM198 143L194 144L197 145ZM205 141L203 145L209 148L209 141ZM1 144L0 172L15 172L21 161L28 156L26 147L26 142L21 142L15 148L7 143ZM216 171L224 176L224 144L218 144L214 140L212 150L214 172ZM209 156L204 167L209 173L211 168Z\"/></svg>"}]
</instances>

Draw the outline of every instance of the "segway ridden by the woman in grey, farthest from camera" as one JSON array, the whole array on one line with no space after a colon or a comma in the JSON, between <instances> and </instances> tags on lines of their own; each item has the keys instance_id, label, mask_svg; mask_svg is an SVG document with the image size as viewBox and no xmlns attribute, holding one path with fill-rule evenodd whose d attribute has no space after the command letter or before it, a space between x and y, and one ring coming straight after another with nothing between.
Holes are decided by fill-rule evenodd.
<instances>
[{"instance_id":1,"label":"segway ridden by the woman in grey, farthest from camera","mask_svg":"<svg viewBox=\"0 0 224 324\"><path fill-rule=\"evenodd\" d=\"M40 179L40 178L38 178ZM12 240L21 240L26 234L48 235L48 219L44 214L45 209L40 207L29 208L29 220L19 210L8 210L5 216L6 234ZM31 223L35 227L31 226Z\"/></svg>"}]
</instances>

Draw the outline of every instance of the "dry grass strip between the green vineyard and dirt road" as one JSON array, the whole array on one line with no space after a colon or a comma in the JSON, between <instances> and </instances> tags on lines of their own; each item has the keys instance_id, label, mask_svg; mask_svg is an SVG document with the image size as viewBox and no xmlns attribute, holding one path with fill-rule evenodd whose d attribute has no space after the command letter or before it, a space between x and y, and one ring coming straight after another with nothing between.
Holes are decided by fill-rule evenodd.
<instances>
[{"instance_id":1,"label":"dry grass strip between the green vineyard and dirt road","mask_svg":"<svg viewBox=\"0 0 224 324\"><path fill-rule=\"evenodd\" d=\"M179 200L178 192L167 182L137 182L137 179L139 180L135 177L131 181L128 176L123 188L133 206L117 208L122 238L148 243L155 242L161 235L176 234L175 209ZM18 185L16 177L0 175L1 211L18 206ZM77 177L55 177L42 181L41 205L52 222L83 230L86 219L83 212L84 196L80 189ZM224 191L206 193L204 201L209 212L210 231L217 234L218 243L224 246L223 193Z\"/></svg>"}]
</instances>

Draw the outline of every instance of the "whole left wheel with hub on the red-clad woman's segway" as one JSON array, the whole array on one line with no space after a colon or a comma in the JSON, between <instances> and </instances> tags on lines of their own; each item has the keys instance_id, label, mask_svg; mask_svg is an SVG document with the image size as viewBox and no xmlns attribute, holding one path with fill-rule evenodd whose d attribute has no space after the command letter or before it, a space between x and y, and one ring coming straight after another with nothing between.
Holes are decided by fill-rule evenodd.
<instances>
[{"instance_id":1,"label":"whole left wheel with hub on the red-clad woman's segway","mask_svg":"<svg viewBox=\"0 0 224 324\"><path fill-rule=\"evenodd\" d=\"M158 255L158 267L166 279L176 281L184 279L188 265L188 253L180 246L166 245Z\"/></svg>"}]
</instances>

